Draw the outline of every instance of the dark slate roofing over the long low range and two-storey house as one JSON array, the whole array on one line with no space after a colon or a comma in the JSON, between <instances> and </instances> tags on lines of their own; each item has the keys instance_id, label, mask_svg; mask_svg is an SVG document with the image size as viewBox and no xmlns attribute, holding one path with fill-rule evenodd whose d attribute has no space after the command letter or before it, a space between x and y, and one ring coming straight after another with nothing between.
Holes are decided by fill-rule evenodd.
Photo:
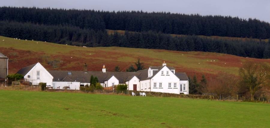
<instances>
[{"instance_id":1,"label":"dark slate roofing over the long low range and two-storey house","mask_svg":"<svg viewBox=\"0 0 270 128\"><path fill-rule=\"evenodd\" d=\"M153 78L164 66L155 66L157 69L153 71L153 76L148 78L148 69L143 69L137 72L98 72L98 71L48 71L53 76L53 81L79 81L82 83L89 83L91 75L96 76L98 81L103 83L104 81L109 80L112 76L115 76L120 84L124 84L125 81L131 80L134 76L139 78L140 81ZM170 68L174 70L174 68ZM68 75L67 72L71 72L71 75ZM176 76L180 80L188 80L185 73L176 73Z\"/></svg>"}]
</instances>

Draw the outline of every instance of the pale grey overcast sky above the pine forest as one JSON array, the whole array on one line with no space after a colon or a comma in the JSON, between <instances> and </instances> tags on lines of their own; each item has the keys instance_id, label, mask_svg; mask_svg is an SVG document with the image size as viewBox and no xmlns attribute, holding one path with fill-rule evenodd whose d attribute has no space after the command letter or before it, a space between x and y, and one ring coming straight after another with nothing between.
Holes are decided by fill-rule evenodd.
<instances>
[{"instance_id":1,"label":"pale grey overcast sky above the pine forest","mask_svg":"<svg viewBox=\"0 0 270 128\"><path fill-rule=\"evenodd\" d=\"M0 0L0 6L143 10L256 18L270 22L270 0Z\"/></svg>"}]
</instances>

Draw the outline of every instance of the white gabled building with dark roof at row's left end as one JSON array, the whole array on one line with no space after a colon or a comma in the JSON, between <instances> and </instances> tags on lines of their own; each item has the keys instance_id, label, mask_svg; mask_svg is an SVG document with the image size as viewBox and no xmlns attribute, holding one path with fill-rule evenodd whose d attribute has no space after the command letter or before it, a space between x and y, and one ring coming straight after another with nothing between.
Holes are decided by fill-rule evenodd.
<instances>
[{"instance_id":1,"label":"white gabled building with dark roof at row's left end","mask_svg":"<svg viewBox=\"0 0 270 128\"><path fill-rule=\"evenodd\" d=\"M17 73L23 75L24 78L32 82L33 85L38 85L41 82L46 83L46 85L52 84L53 76L39 62L24 67Z\"/></svg>"}]
</instances>

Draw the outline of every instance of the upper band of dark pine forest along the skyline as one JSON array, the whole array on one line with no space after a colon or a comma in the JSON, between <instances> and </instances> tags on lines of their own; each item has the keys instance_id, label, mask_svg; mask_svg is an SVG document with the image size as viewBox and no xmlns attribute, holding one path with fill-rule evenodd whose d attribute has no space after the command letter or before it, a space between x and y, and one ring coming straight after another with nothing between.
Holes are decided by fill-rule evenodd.
<instances>
[{"instance_id":1,"label":"upper band of dark pine forest along the skyline","mask_svg":"<svg viewBox=\"0 0 270 128\"><path fill-rule=\"evenodd\" d=\"M95 11L0 7L0 20L75 26L95 31L112 29L181 35L270 38L270 24L257 19L143 11Z\"/></svg>"}]
</instances>

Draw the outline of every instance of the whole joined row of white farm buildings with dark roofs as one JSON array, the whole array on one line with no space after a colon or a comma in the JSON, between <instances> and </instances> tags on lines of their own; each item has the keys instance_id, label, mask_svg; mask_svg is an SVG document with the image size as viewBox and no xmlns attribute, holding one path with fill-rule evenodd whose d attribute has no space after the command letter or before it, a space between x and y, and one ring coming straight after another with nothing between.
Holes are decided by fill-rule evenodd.
<instances>
[{"instance_id":1,"label":"whole joined row of white farm buildings with dark roofs","mask_svg":"<svg viewBox=\"0 0 270 128\"><path fill-rule=\"evenodd\" d=\"M37 64L41 66L40 63ZM31 69L34 68L34 66L35 64L23 68L27 69L22 72L23 75L26 74L24 75L25 78L28 78L28 74L31 74L31 72L36 72ZM72 90L79 90L80 86L91 84L90 78L93 75L98 78L99 83L101 83L103 87L127 84L128 90L188 94L188 78L186 73L176 72L173 67L168 67L165 61L162 66L150 66L148 69L137 72L106 72L105 66L103 66L100 72L87 71L86 64L84 68L84 71L45 71L46 69L42 68L42 72L47 75L40 74L40 81L36 83L44 82L47 83L47 85L52 85L55 89L57 87L63 89L65 86L68 86ZM21 71L18 73L21 74ZM35 79L36 74L32 75ZM41 77L47 81L41 81Z\"/></svg>"}]
</instances>

